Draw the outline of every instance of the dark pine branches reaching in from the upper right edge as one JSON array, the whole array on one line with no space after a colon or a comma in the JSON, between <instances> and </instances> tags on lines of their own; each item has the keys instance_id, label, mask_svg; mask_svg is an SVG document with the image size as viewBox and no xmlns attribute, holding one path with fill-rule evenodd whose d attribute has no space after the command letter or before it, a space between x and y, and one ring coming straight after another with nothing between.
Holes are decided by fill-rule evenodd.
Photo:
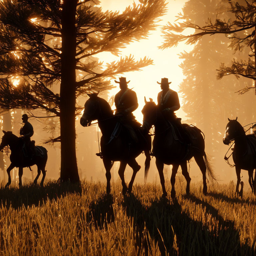
<instances>
[{"instance_id":1,"label":"dark pine branches reaching in from the upper right edge","mask_svg":"<svg viewBox=\"0 0 256 256\"><path fill-rule=\"evenodd\" d=\"M238 92L243 94L250 89L254 89L256 94L256 0L243 0L240 2L230 0L223 2L229 4L227 12L233 14L233 20L216 19L213 23L212 20L208 18L205 26L199 26L188 19L185 22L175 23L173 25L168 23L163 28L165 41L160 48L165 49L176 46L178 42L185 40L186 44L194 44L204 35L225 34L231 39L228 47L235 51L242 51L245 47L250 47L251 51L249 52L248 61L233 59L231 67L227 67L224 63L221 63L219 69L217 69L217 79L221 79L223 76L231 74L235 75L237 79L240 76L250 78L254 81L254 86L246 86L245 88L238 90ZM241 2L244 5L242 5ZM180 14L178 19L182 18L183 16ZM181 33L186 28L195 29L195 33L187 36L173 33L173 31Z\"/></svg>"}]
</instances>

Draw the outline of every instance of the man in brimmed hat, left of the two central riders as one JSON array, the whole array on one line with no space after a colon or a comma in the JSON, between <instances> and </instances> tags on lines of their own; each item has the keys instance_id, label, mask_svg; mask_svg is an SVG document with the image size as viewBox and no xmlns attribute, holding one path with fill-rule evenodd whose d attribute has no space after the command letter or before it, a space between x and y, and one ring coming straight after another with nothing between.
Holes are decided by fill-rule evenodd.
<instances>
[{"instance_id":1,"label":"man in brimmed hat, left of the two central riders","mask_svg":"<svg viewBox=\"0 0 256 256\"><path fill-rule=\"evenodd\" d=\"M115 115L120 117L121 123L127 128L132 140L138 142L134 128L140 127L141 124L136 121L135 116L132 114L139 106L136 92L128 88L130 81L127 82L126 77L119 77L119 82L116 80L115 82L119 84L121 89L115 95Z\"/></svg>"}]
</instances>

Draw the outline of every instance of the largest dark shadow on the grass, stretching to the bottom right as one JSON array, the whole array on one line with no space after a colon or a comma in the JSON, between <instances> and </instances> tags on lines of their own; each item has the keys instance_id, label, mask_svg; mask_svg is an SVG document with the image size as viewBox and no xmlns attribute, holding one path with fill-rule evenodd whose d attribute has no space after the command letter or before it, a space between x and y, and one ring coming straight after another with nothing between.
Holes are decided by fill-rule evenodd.
<instances>
[{"instance_id":1,"label":"largest dark shadow on the grass, stretching to the bottom right","mask_svg":"<svg viewBox=\"0 0 256 256\"><path fill-rule=\"evenodd\" d=\"M203 204L202 201L200 203ZM214 222L195 221L182 210L177 200L155 199L147 208L131 194L124 198L123 206L127 216L132 217L138 255L143 249L145 255L151 254L147 234L155 245L158 244L161 255L251 254L249 246L241 247L239 232L233 223L223 220L224 226L221 226ZM219 216L216 209L207 204L204 206L207 211Z\"/></svg>"}]
</instances>

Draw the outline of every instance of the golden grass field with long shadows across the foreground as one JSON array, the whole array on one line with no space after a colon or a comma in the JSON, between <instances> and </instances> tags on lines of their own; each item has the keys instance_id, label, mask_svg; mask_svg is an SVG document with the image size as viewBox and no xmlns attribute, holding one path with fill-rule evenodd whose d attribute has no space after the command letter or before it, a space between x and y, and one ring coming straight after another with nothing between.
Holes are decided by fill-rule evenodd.
<instances>
[{"instance_id":1,"label":"golden grass field with long shadows across the foreground","mask_svg":"<svg viewBox=\"0 0 256 256\"><path fill-rule=\"evenodd\" d=\"M170 186L167 183L170 194ZM177 199L161 200L158 184L46 183L0 188L0 255L254 255L256 199L235 186L177 179Z\"/></svg>"}]
</instances>

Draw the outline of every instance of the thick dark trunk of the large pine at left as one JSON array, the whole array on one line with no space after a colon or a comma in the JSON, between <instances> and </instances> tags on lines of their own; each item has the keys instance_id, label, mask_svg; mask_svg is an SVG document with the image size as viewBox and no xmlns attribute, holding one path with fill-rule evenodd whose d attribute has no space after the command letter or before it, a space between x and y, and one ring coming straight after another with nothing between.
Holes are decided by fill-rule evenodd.
<instances>
[{"instance_id":1,"label":"thick dark trunk of the large pine at left","mask_svg":"<svg viewBox=\"0 0 256 256\"><path fill-rule=\"evenodd\" d=\"M63 0L60 85L61 181L79 181L75 130L76 6L77 0Z\"/></svg>"}]
</instances>

